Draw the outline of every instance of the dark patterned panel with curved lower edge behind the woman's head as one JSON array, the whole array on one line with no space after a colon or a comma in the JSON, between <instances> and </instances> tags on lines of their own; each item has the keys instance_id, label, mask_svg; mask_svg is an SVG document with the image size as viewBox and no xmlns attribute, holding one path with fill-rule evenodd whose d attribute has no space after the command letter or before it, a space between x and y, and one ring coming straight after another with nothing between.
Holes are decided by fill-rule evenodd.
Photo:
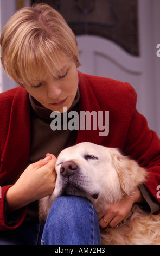
<instances>
[{"instance_id":1,"label":"dark patterned panel with curved lower edge behind the woman's head","mask_svg":"<svg viewBox=\"0 0 160 256\"><path fill-rule=\"evenodd\" d=\"M76 35L98 35L139 56L137 0L32 0L60 11Z\"/></svg>"}]
</instances>

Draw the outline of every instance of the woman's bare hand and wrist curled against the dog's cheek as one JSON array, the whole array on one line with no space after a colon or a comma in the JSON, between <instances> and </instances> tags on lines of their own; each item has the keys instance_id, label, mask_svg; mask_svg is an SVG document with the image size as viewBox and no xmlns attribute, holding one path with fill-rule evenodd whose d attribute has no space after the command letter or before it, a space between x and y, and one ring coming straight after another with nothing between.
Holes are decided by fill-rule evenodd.
<instances>
[{"instance_id":1,"label":"woman's bare hand and wrist curled against the dog's cheek","mask_svg":"<svg viewBox=\"0 0 160 256\"><path fill-rule=\"evenodd\" d=\"M30 164L24 170L6 193L8 213L52 194L56 178L55 163L56 157L47 154L44 159Z\"/></svg>"}]
</instances>

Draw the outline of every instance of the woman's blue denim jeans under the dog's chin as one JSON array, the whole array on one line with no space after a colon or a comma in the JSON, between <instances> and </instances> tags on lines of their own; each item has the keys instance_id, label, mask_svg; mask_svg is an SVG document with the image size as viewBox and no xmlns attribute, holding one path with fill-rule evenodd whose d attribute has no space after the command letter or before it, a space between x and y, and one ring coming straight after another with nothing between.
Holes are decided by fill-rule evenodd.
<instances>
[{"instance_id":1,"label":"woman's blue denim jeans under the dog's chin","mask_svg":"<svg viewBox=\"0 0 160 256\"><path fill-rule=\"evenodd\" d=\"M62 196L53 203L46 224L23 223L0 233L0 245L100 245L97 214L86 198Z\"/></svg>"}]
</instances>

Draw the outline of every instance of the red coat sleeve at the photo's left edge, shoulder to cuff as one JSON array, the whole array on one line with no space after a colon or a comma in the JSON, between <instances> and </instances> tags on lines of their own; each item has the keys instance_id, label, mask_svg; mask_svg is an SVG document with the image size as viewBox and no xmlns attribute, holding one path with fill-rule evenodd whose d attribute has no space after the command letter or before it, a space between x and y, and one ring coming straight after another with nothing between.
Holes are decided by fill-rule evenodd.
<instances>
[{"instance_id":1,"label":"red coat sleeve at the photo's left edge, shoulder to cuff","mask_svg":"<svg viewBox=\"0 0 160 256\"><path fill-rule=\"evenodd\" d=\"M7 206L7 201L5 199L5 195L7 193L7 190L12 186L10 184L13 184L12 180L15 179L15 176L13 175L12 179L12 174L8 173L7 169L4 168L3 163L2 163L2 156L3 156L3 151L5 148L5 142L8 137L8 130L9 130L9 122L10 122L10 113L11 113L11 107L12 107L12 102L14 100L14 95L17 92L17 88L11 89L8 92L4 92L0 94L0 117L1 117L1 127L0 127L0 231L5 231L5 230L11 230L15 229L18 226L21 225L23 222L25 216L27 215L28 207L20 209L16 211L16 216L15 215L6 215L6 206ZM21 93L22 95L22 93ZM23 101L24 101L24 97ZM19 102L19 101L18 101ZM20 107L21 109L22 107ZM23 110L23 109L22 109ZM17 114L17 112L16 112ZM10 147L11 148L11 147ZM15 151L15 150L14 150ZM14 155L14 154L12 154ZM17 154L16 154L17 155ZM15 156L14 155L14 158ZM8 159L8 155L7 155ZM12 161L10 161L12 162ZM15 167L16 169L16 167ZM10 180L9 180L10 176Z\"/></svg>"}]
</instances>

